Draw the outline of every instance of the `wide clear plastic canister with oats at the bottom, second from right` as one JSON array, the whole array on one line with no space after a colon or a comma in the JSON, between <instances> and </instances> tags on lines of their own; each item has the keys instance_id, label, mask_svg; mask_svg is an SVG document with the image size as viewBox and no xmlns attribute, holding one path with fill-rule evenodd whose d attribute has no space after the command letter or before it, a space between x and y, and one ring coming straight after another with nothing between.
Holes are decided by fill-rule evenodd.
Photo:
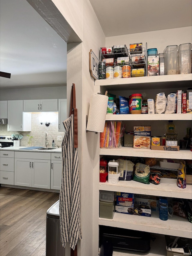
<instances>
[{"instance_id":1,"label":"wide clear plastic canister with oats at the bottom, second from right","mask_svg":"<svg viewBox=\"0 0 192 256\"><path fill-rule=\"evenodd\" d=\"M178 45L168 45L164 50L166 75L179 74Z\"/></svg>"}]
</instances>

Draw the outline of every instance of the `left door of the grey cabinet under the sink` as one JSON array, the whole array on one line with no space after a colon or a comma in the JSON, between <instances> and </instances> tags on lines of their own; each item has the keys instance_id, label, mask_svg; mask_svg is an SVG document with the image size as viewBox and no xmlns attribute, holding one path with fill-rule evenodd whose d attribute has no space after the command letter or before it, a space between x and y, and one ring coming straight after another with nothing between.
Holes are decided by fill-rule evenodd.
<instances>
[{"instance_id":1,"label":"left door of the grey cabinet under the sink","mask_svg":"<svg viewBox=\"0 0 192 256\"><path fill-rule=\"evenodd\" d=\"M14 185L32 186L32 159L15 158Z\"/></svg>"}]
</instances>

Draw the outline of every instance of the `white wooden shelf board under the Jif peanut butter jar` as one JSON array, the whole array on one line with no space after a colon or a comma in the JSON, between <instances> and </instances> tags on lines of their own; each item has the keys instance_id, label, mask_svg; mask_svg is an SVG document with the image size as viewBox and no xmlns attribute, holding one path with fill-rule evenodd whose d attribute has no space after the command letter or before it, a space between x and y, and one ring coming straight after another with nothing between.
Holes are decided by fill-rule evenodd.
<instances>
[{"instance_id":1,"label":"white wooden shelf board under the Jif peanut butter jar","mask_svg":"<svg viewBox=\"0 0 192 256\"><path fill-rule=\"evenodd\" d=\"M123 114L123 115L113 115L108 114L106 115L106 121L138 121L138 120L184 120L184 121L191 121L192 114L137 114L137 115L130 115L130 114Z\"/></svg>"}]
</instances>

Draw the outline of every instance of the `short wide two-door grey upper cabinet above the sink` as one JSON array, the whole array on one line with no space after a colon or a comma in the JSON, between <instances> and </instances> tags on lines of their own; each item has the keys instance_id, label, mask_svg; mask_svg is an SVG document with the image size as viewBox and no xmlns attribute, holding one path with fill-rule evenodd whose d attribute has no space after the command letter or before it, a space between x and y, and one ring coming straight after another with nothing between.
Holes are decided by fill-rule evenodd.
<instances>
[{"instance_id":1,"label":"short wide two-door grey upper cabinet above the sink","mask_svg":"<svg viewBox=\"0 0 192 256\"><path fill-rule=\"evenodd\" d=\"M58 99L23 100L23 112L57 112Z\"/></svg>"}]
</instances>

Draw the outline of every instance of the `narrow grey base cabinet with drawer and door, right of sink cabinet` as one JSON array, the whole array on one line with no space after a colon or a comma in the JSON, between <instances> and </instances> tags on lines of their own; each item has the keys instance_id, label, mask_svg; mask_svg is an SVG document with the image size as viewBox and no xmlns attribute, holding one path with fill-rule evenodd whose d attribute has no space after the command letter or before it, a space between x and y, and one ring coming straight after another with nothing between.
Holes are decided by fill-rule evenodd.
<instances>
[{"instance_id":1,"label":"narrow grey base cabinet with drawer and door, right of sink cabinet","mask_svg":"<svg viewBox=\"0 0 192 256\"><path fill-rule=\"evenodd\" d=\"M61 153L51 153L51 189L61 188L62 161Z\"/></svg>"}]
</instances>

